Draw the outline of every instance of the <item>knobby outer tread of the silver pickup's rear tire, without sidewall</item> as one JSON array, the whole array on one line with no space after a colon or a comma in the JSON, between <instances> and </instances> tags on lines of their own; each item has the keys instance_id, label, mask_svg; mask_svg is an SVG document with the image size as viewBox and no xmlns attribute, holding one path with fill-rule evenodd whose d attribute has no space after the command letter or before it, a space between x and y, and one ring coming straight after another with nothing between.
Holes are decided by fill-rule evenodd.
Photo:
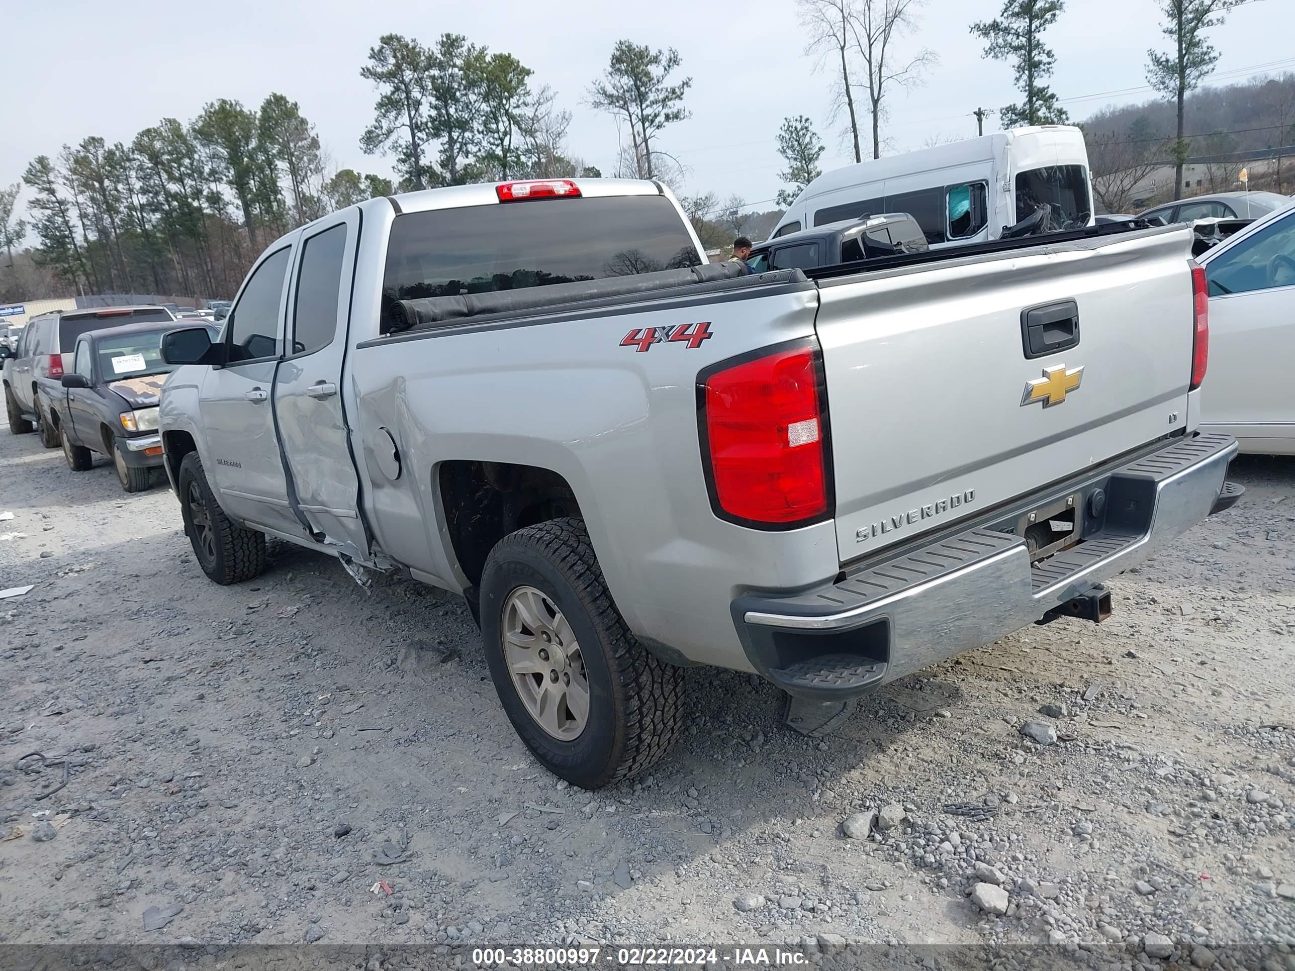
<instances>
[{"instance_id":1,"label":"knobby outer tread of the silver pickup's rear tire, without sidewall","mask_svg":"<svg viewBox=\"0 0 1295 971\"><path fill-rule=\"evenodd\" d=\"M584 520L565 517L518 530L495 545L490 559L508 555L513 546L528 546L561 570L613 646L609 660L624 693L625 738L620 761L598 786L650 769L682 731L684 669L657 658L631 633L611 599Z\"/></svg>"}]
</instances>

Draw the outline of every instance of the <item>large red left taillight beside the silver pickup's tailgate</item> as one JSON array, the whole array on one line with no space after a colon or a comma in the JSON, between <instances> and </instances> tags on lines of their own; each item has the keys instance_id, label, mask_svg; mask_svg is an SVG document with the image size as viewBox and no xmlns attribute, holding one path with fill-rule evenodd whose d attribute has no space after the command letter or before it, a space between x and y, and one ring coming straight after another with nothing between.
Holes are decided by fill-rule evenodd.
<instances>
[{"instance_id":1,"label":"large red left taillight beside the silver pickup's tailgate","mask_svg":"<svg viewBox=\"0 0 1295 971\"><path fill-rule=\"evenodd\" d=\"M831 513L828 414L816 347L798 342L699 378L711 506L729 522L793 528Z\"/></svg>"}]
</instances>

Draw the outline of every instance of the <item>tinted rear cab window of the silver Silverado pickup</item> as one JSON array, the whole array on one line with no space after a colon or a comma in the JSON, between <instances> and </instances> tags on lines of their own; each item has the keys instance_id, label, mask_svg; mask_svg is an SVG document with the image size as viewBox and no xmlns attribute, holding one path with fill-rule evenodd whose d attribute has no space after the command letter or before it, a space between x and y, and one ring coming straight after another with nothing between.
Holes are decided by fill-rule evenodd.
<instances>
[{"instance_id":1,"label":"tinted rear cab window of the silver Silverado pickup","mask_svg":"<svg viewBox=\"0 0 1295 971\"><path fill-rule=\"evenodd\" d=\"M407 212L391 224L392 300L633 276L701 263L663 195L558 198Z\"/></svg>"}]
</instances>

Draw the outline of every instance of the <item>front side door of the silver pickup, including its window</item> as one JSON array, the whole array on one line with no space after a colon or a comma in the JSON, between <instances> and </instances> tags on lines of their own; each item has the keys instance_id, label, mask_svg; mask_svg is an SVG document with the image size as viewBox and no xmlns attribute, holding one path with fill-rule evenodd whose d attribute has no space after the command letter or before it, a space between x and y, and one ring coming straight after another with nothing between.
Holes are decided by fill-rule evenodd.
<instances>
[{"instance_id":1,"label":"front side door of the silver pickup, including its window","mask_svg":"<svg viewBox=\"0 0 1295 971\"><path fill-rule=\"evenodd\" d=\"M203 471L236 519L290 535L302 526L287 501L271 395L284 347L284 300L293 247L262 258L225 321L228 364L202 379Z\"/></svg>"}]
</instances>

